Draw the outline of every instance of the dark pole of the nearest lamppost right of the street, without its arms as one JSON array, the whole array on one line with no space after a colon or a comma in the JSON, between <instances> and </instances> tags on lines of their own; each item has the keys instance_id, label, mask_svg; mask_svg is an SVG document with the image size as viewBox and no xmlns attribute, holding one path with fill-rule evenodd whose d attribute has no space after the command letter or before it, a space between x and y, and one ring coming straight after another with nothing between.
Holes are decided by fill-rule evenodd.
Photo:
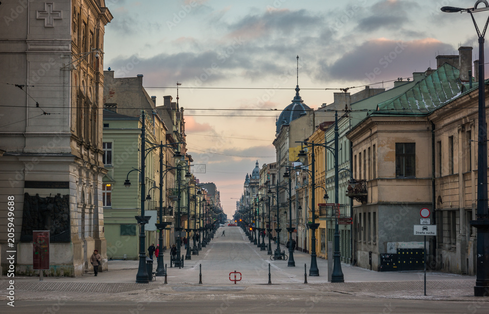
<instances>
[{"instance_id":1,"label":"dark pole of the nearest lamppost right of the street, without its arms","mask_svg":"<svg viewBox=\"0 0 489 314\"><path fill-rule=\"evenodd\" d=\"M325 143L326 145L326 143ZM325 151L326 153L326 151ZM338 178L338 111L334 112L334 200L336 204L339 204L339 178ZM334 208L339 211L337 205ZM334 253L333 253L333 272L331 275L331 282L345 282L343 272L341 271L341 253L339 251L339 226L338 226L339 212L335 212L334 215Z\"/></svg>"}]
</instances>

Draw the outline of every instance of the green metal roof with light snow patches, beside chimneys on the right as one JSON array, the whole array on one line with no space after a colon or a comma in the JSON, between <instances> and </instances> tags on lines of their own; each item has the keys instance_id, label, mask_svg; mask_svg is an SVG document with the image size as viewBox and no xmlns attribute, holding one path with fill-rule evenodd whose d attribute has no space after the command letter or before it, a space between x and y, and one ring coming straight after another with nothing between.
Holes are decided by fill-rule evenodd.
<instances>
[{"instance_id":1,"label":"green metal roof with light snow patches, beside chimneys on the right","mask_svg":"<svg viewBox=\"0 0 489 314\"><path fill-rule=\"evenodd\" d=\"M426 114L460 95L460 71L445 63L398 97L378 104L378 114Z\"/></svg>"}]
</instances>

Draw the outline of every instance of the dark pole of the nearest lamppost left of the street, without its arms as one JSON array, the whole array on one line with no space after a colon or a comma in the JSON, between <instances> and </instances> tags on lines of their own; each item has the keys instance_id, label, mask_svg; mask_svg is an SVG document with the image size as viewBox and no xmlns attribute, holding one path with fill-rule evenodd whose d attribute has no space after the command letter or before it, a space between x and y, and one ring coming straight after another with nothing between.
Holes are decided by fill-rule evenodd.
<instances>
[{"instance_id":1,"label":"dark pole of the nearest lamppost left of the street, without its arms","mask_svg":"<svg viewBox=\"0 0 489 314\"><path fill-rule=\"evenodd\" d=\"M144 158L146 157L145 152L145 144L146 144L146 125L145 120L146 116L144 114L144 110L141 114L142 118L142 126L141 126L141 216L136 216L135 218L138 220L140 225L139 232L139 265L136 273L136 283L149 283L148 271L146 270L146 235L144 233L144 224L148 223L146 221L146 217L144 216L144 202L145 199L145 190L146 184L145 182L145 163ZM139 217L139 218L138 218Z\"/></svg>"}]
</instances>

